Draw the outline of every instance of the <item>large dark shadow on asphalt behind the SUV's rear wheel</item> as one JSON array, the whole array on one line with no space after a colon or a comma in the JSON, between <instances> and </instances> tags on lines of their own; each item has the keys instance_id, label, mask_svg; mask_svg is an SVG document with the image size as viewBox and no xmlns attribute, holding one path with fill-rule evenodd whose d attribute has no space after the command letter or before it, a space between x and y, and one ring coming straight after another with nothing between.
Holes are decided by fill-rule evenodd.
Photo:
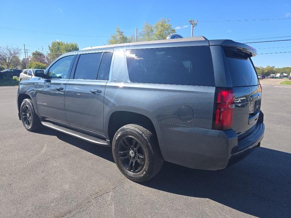
<instances>
[{"instance_id":1,"label":"large dark shadow on asphalt behind the SUV's rear wheel","mask_svg":"<svg viewBox=\"0 0 291 218\"><path fill-rule=\"evenodd\" d=\"M258 217L290 217L291 154L257 148L224 170L193 170L164 162L144 186L179 195L208 198Z\"/></svg>"}]
</instances>

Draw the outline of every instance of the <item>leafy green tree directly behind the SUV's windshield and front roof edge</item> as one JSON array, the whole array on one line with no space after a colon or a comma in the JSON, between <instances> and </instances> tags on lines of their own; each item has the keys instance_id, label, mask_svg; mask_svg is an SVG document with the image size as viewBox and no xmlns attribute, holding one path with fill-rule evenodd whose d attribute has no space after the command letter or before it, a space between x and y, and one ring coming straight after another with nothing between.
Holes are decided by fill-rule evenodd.
<instances>
[{"instance_id":1,"label":"leafy green tree directly behind the SUV's windshield and front roof edge","mask_svg":"<svg viewBox=\"0 0 291 218\"><path fill-rule=\"evenodd\" d=\"M51 45L48 46L49 53L47 55L48 64L52 63L60 55L66 52L78 51L79 46L74 42L63 42L63 41L53 41Z\"/></svg>"}]
</instances>

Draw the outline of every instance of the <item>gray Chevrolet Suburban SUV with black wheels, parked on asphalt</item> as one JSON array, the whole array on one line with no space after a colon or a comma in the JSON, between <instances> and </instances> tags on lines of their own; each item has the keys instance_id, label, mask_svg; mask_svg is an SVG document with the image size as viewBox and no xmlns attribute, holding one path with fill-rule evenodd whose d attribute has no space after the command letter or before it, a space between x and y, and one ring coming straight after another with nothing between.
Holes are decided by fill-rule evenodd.
<instances>
[{"instance_id":1,"label":"gray Chevrolet Suburban SUV with black wheels, parked on asphalt","mask_svg":"<svg viewBox=\"0 0 291 218\"><path fill-rule=\"evenodd\" d=\"M63 54L19 84L19 118L112 148L120 172L144 182L163 161L220 170L260 146L256 50L190 37Z\"/></svg>"}]
</instances>

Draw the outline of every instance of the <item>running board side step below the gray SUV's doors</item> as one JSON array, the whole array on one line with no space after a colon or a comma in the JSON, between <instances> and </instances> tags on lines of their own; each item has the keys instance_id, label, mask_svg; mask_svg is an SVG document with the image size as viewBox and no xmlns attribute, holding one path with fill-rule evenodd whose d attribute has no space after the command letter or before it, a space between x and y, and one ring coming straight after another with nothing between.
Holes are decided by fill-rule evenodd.
<instances>
[{"instance_id":1,"label":"running board side step below the gray SUV's doors","mask_svg":"<svg viewBox=\"0 0 291 218\"><path fill-rule=\"evenodd\" d=\"M98 144L98 145L101 145L101 146L110 147L109 140L98 139L98 138L96 138L94 136L83 134L83 133L79 133L79 132L77 132L75 130L72 130L72 129L69 129L69 128L65 128L65 127L62 127L62 126L58 126L56 124L49 123L49 122L42 121L41 123L45 127L57 130L59 132L74 136L74 137L79 138L79 139L83 139L83 140L85 140L87 142L91 142L91 143Z\"/></svg>"}]
</instances>

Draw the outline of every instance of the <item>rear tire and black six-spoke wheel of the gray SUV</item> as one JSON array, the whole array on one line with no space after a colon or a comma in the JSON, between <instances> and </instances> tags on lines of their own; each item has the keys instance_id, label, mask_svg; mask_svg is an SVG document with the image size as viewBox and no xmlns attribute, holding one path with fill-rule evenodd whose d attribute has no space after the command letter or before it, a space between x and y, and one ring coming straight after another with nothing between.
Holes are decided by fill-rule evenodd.
<instances>
[{"instance_id":1,"label":"rear tire and black six-spoke wheel of the gray SUV","mask_svg":"<svg viewBox=\"0 0 291 218\"><path fill-rule=\"evenodd\" d=\"M112 153L120 172L135 182L153 178L163 165L156 136L137 124L127 124L115 133Z\"/></svg>"}]
</instances>

